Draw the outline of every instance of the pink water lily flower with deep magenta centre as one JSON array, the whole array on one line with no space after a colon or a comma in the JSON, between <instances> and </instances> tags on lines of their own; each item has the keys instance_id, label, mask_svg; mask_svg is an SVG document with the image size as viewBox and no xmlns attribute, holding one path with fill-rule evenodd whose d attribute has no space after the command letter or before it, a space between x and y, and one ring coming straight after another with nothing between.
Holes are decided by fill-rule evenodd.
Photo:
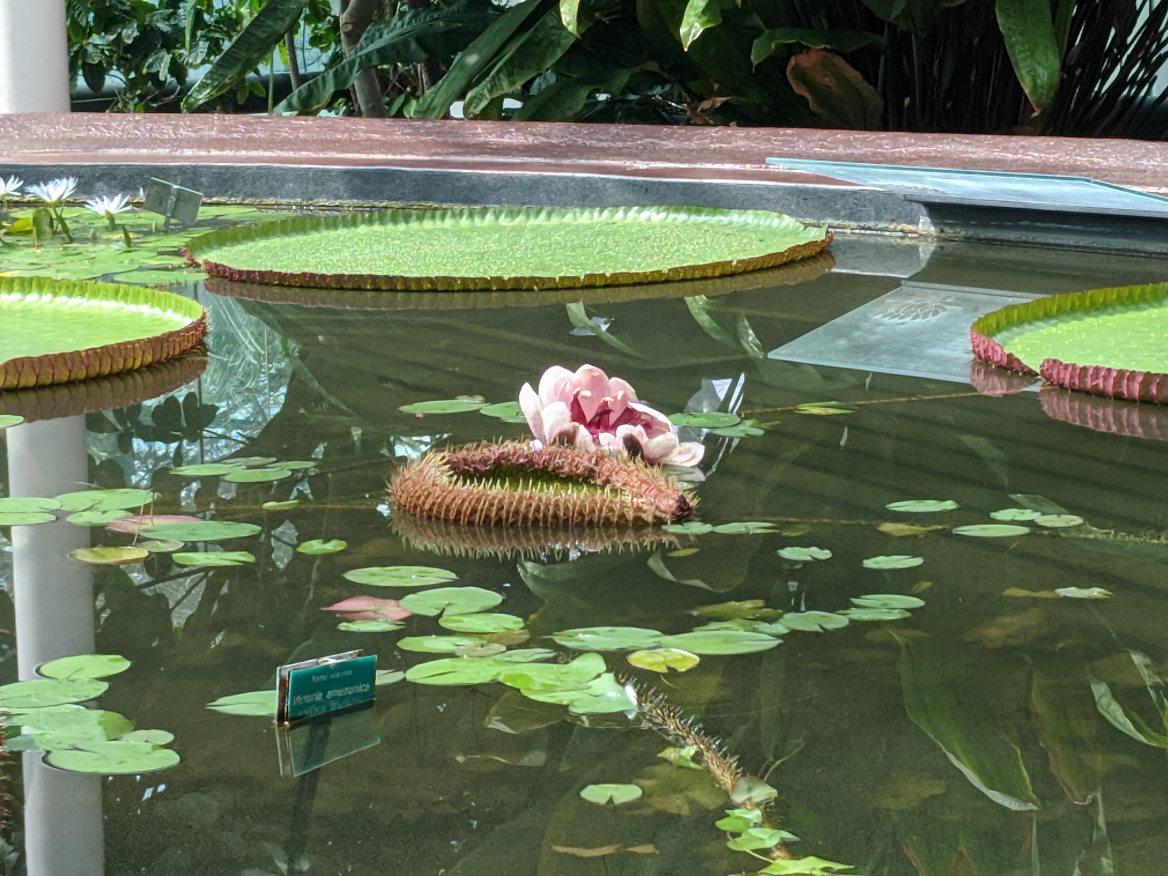
<instances>
[{"instance_id":1,"label":"pink water lily flower with deep magenta centre","mask_svg":"<svg viewBox=\"0 0 1168 876\"><path fill-rule=\"evenodd\" d=\"M610 378L596 366L583 364L575 374L552 366L540 378L538 392L523 384L519 404L544 444L599 447L656 465L694 466L705 452L697 442L679 442L668 417L641 404L627 382Z\"/></svg>"}]
</instances>

